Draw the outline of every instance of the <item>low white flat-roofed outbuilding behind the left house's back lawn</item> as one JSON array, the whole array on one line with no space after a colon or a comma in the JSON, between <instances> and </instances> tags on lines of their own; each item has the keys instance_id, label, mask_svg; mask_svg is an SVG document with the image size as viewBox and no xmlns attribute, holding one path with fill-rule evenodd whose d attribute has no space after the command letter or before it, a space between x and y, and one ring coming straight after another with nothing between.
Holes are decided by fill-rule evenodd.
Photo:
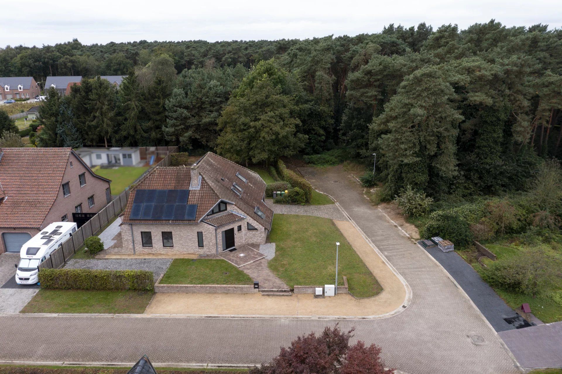
<instances>
[{"instance_id":1,"label":"low white flat-roofed outbuilding behind the left house's back lawn","mask_svg":"<svg viewBox=\"0 0 562 374\"><path fill-rule=\"evenodd\" d=\"M134 166L140 162L140 152L136 147L82 147L76 149L76 153L89 167L97 165Z\"/></svg>"}]
</instances>

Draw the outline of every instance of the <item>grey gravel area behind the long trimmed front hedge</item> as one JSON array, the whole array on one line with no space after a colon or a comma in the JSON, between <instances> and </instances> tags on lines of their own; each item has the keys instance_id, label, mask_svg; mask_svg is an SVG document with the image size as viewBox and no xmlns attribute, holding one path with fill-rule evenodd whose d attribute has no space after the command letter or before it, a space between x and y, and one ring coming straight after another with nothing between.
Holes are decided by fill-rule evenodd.
<instances>
[{"instance_id":1,"label":"grey gravel area behind the long trimmed front hedge","mask_svg":"<svg viewBox=\"0 0 562 374\"><path fill-rule=\"evenodd\" d=\"M172 262L171 258L106 258L71 259L67 269L92 270L148 270L154 273L154 280L164 274Z\"/></svg>"}]
</instances>

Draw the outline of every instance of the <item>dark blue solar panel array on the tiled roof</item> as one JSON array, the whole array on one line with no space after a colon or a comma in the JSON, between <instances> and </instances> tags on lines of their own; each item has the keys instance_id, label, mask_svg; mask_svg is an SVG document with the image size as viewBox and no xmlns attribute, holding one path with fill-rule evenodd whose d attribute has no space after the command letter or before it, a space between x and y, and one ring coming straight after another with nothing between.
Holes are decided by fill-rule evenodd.
<instances>
[{"instance_id":1,"label":"dark blue solar panel array on the tiled roof","mask_svg":"<svg viewBox=\"0 0 562 374\"><path fill-rule=\"evenodd\" d=\"M189 190L137 190L131 220L194 220L197 204L188 204Z\"/></svg>"}]
</instances>

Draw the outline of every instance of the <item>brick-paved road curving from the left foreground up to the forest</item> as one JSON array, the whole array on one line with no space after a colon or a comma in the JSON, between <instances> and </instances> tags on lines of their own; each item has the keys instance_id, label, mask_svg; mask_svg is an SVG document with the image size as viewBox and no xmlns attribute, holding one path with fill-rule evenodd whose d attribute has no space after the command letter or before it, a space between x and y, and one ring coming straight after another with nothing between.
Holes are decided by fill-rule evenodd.
<instances>
[{"instance_id":1,"label":"brick-paved road curving from the left foreground up to the forest","mask_svg":"<svg viewBox=\"0 0 562 374\"><path fill-rule=\"evenodd\" d=\"M382 346L387 366L409 373L518 372L491 327L442 268L373 209L341 168L324 176L307 175L317 189L338 200L414 294L403 313L382 320L343 320L344 329L355 327L358 339ZM259 363L295 336L332 325L334 321L268 318L3 316L0 359L135 362L147 353L153 362ZM484 342L473 343L473 335Z\"/></svg>"}]
</instances>

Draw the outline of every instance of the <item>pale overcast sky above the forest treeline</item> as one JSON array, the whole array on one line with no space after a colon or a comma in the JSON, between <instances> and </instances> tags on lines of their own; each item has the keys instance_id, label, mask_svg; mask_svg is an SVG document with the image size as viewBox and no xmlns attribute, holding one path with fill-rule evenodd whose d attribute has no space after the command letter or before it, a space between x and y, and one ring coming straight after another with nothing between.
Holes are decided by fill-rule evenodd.
<instances>
[{"instance_id":1,"label":"pale overcast sky above the forest treeline","mask_svg":"<svg viewBox=\"0 0 562 374\"><path fill-rule=\"evenodd\" d=\"M375 33L426 22L461 29L494 18L507 26L562 26L560 0L6 1L0 46L134 40L256 40Z\"/></svg>"}]
</instances>

